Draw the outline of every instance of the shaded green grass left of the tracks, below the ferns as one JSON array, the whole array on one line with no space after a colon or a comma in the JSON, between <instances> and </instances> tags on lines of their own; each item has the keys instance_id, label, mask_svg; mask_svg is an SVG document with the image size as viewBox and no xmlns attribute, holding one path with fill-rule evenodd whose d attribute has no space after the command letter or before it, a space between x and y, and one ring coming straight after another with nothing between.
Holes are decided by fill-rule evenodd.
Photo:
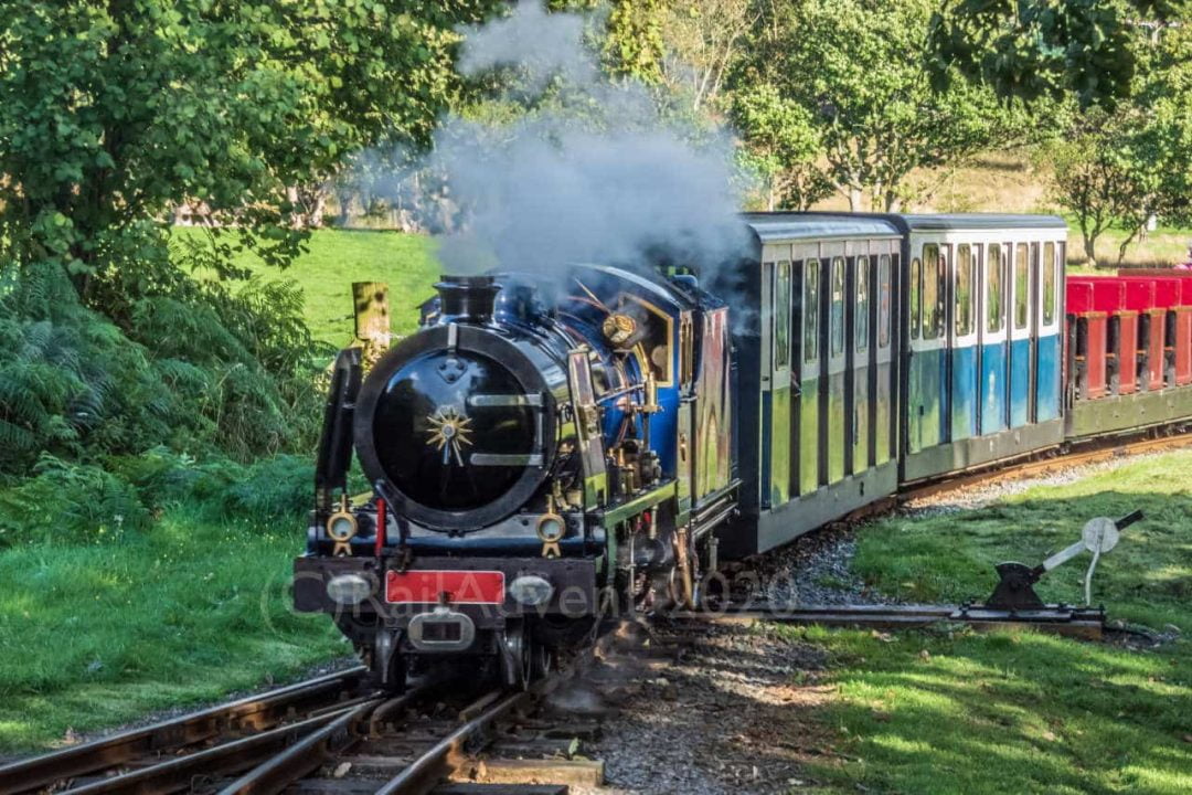
<instances>
[{"instance_id":1,"label":"shaded green grass left of the tracks, below the ferns","mask_svg":"<svg viewBox=\"0 0 1192 795\"><path fill-rule=\"evenodd\" d=\"M300 522L197 523L0 553L0 752L217 701L349 654L324 615L290 610Z\"/></svg>"}]
</instances>

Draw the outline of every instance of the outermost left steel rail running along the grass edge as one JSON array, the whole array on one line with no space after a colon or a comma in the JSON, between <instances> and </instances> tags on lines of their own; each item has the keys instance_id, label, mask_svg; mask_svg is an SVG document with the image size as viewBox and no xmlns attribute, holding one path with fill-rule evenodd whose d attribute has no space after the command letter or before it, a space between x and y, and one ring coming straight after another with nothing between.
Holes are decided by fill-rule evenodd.
<instances>
[{"instance_id":1,"label":"outermost left steel rail running along the grass edge","mask_svg":"<svg viewBox=\"0 0 1192 795\"><path fill-rule=\"evenodd\" d=\"M290 710L309 702L328 701L359 684L364 673L362 666L347 669L151 726L0 765L0 795L17 795L97 774L134 762L144 754L201 743L229 729L275 726Z\"/></svg>"}]
</instances>

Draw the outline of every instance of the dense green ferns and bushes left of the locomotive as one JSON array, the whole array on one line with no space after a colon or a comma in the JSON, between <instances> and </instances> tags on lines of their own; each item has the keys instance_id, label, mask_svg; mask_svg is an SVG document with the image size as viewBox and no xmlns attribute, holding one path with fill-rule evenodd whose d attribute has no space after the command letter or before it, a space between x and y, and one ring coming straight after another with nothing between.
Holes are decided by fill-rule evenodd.
<instances>
[{"instance_id":1,"label":"dense green ferns and bushes left of the locomotive","mask_svg":"<svg viewBox=\"0 0 1192 795\"><path fill-rule=\"evenodd\" d=\"M57 266L0 268L0 477L29 474L43 452L248 461L312 445L329 352L293 284L232 290L168 260L124 273L92 282L101 315Z\"/></svg>"}]
</instances>

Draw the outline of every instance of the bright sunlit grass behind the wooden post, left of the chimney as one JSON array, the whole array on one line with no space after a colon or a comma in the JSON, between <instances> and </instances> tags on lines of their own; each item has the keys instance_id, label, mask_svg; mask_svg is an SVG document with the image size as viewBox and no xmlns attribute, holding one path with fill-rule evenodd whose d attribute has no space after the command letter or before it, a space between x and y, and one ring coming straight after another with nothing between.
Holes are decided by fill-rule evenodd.
<instances>
[{"instance_id":1,"label":"bright sunlit grass behind the wooden post, left of the chimney","mask_svg":"<svg viewBox=\"0 0 1192 795\"><path fill-rule=\"evenodd\" d=\"M175 235L201 237L194 228L176 228ZM352 342L353 281L389 285L393 334L410 334L418 324L418 305L434 296L439 262L434 241L424 235L392 231L321 229L309 250L285 271L263 265L252 253L237 265L267 279L293 279L306 298L306 324L316 337L336 347Z\"/></svg>"}]
</instances>

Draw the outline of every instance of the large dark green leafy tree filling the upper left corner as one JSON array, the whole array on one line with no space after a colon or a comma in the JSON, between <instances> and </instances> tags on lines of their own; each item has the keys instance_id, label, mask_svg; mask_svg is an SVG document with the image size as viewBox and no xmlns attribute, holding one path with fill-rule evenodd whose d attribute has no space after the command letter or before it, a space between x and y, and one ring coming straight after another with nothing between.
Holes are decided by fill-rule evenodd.
<instances>
[{"instance_id":1,"label":"large dark green leafy tree filling the upper left corner","mask_svg":"<svg viewBox=\"0 0 1192 795\"><path fill-rule=\"evenodd\" d=\"M0 6L0 246L97 278L164 256L174 204L296 251L287 188L379 142L426 143L460 21L495 0L8 0ZM222 243L224 253L230 243Z\"/></svg>"}]
</instances>

